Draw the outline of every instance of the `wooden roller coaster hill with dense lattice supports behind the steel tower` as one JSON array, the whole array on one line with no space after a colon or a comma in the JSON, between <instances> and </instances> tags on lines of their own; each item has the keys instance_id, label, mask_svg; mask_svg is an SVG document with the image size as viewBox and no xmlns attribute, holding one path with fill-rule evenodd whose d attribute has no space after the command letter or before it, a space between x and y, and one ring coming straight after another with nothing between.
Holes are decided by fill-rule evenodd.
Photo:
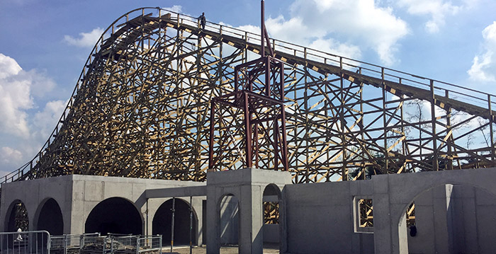
<instances>
[{"instance_id":1,"label":"wooden roller coaster hill with dense lattice supports behind the steel tower","mask_svg":"<svg viewBox=\"0 0 496 254\"><path fill-rule=\"evenodd\" d=\"M285 62L294 183L495 166L494 96L270 40ZM159 8L126 13L96 43L43 148L3 183L67 174L205 180L210 100L232 92L234 67L260 51L259 35L229 26L201 29ZM241 125L239 112L224 118ZM260 146L256 167L271 168L269 146ZM242 167L241 150L231 144L213 170Z\"/></svg>"}]
</instances>

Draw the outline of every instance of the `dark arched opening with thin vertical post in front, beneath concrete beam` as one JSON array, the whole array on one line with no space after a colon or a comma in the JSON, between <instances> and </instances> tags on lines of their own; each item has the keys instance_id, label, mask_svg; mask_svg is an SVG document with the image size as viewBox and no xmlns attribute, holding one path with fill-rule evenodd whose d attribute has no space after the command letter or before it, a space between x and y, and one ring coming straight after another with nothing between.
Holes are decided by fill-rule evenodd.
<instances>
[{"instance_id":1,"label":"dark arched opening with thin vertical post in front, beneath concrete beam","mask_svg":"<svg viewBox=\"0 0 496 254\"><path fill-rule=\"evenodd\" d=\"M178 198L174 200L174 246L189 245L190 204ZM172 199L162 203L157 212L155 212L152 221L152 233L162 235L162 244L164 246L170 246L171 244L172 203ZM191 209L191 241L196 245L198 244L196 233L198 218L195 210L192 207Z\"/></svg>"}]
</instances>

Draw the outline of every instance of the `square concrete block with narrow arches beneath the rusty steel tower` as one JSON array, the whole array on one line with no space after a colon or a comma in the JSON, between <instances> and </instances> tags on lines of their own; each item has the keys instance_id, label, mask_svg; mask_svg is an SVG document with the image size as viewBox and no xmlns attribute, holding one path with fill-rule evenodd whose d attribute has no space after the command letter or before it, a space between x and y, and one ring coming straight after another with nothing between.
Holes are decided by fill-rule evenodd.
<instances>
[{"instance_id":1,"label":"square concrete block with narrow arches beneath the rusty steel tower","mask_svg":"<svg viewBox=\"0 0 496 254\"><path fill-rule=\"evenodd\" d=\"M219 202L227 194L235 195L239 202L239 253L263 252L262 197L265 187L270 183L278 186L289 184L291 173L254 168L207 173L207 253L220 252Z\"/></svg>"}]
</instances>

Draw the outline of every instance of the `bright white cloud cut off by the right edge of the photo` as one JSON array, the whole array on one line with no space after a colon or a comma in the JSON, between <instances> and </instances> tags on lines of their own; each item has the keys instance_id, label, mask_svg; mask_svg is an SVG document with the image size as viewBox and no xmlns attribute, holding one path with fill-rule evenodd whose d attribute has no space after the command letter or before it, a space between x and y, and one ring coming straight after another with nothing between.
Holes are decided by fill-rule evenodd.
<instances>
[{"instance_id":1,"label":"bright white cloud cut off by the right edge of the photo","mask_svg":"<svg viewBox=\"0 0 496 254\"><path fill-rule=\"evenodd\" d=\"M496 21L483 30L483 52L473 57L467 71L473 81L496 81Z\"/></svg>"}]
</instances>

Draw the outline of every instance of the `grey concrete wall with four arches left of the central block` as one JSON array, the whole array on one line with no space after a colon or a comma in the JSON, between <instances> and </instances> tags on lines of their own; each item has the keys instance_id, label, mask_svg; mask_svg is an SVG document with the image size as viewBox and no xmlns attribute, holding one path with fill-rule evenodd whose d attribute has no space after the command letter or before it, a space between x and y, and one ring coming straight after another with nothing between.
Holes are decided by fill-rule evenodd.
<instances>
[{"instance_id":1,"label":"grey concrete wall with four arches left of the central block","mask_svg":"<svg viewBox=\"0 0 496 254\"><path fill-rule=\"evenodd\" d=\"M145 190L164 187L203 186L205 183L154 180L140 178L118 178L94 175L64 175L55 178L27 180L2 185L0 204L0 229L4 231L7 211L15 200L21 200L28 210L29 228L35 229L35 214L43 206L43 202L53 198L60 206L64 233L84 233L84 224L91 210L110 197L122 197L132 202L142 219L142 232L152 234L152 220L159 206L167 198L145 198ZM193 197L193 209L198 218L198 243L202 237L202 200L205 197ZM188 198L184 201L189 202ZM179 226L179 225L176 225Z\"/></svg>"}]
</instances>

